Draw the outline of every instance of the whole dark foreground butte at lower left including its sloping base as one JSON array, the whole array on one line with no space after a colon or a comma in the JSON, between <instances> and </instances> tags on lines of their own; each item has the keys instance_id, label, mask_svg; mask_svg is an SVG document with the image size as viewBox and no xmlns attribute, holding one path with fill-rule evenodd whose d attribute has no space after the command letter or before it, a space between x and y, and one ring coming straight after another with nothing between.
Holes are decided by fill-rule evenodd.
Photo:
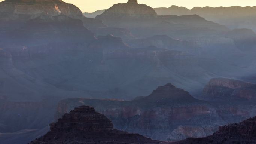
<instances>
[{"instance_id":1,"label":"whole dark foreground butte at lower left including its sloping base","mask_svg":"<svg viewBox=\"0 0 256 144\"><path fill-rule=\"evenodd\" d=\"M143 137L139 134L113 129L112 122L93 107L76 107L65 114L56 123L51 124L51 131L30 144L164 144Z\"/></svg>"}]
</instances>

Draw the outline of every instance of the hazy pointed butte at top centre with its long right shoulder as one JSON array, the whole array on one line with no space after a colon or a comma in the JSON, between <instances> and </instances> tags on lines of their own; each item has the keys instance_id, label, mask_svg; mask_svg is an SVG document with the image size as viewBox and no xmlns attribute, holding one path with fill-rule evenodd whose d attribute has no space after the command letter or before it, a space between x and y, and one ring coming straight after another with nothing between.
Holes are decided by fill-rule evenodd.
<instances>
[{"instance_id":1,"label":"hazy pointed butte at top centre with its long right shoulder","mask_svg":"<svg viewBox=\"0 0 256 144\"><path fill-rule=\"evenodd\" d=\"M102 20L109 27L126 28L138 38L164 34L181 40L195 41L196 37L201 38L209 33L221 35L223 31L229 31L225 26L207 21L198 15L159 16L153 8L138 4L137 1L115 4L101 15L97 15L96 19ZM186 29L186 36L182 34L182 29Z\"/></svg>"}]
</instances>

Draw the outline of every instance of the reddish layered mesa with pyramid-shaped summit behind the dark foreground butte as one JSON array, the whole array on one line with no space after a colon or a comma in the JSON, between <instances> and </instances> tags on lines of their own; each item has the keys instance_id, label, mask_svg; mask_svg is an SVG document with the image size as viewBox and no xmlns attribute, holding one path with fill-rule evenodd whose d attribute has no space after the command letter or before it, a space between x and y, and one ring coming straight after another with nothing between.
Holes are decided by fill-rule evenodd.
<instances>
[{"instance_id":1,"label":"reddish layered mesa with pyramid-shaped summit behind the dark foreground butte","mask_svg":"<svg viewBox=\"0 0 256 144\"><path fill-rule=\"evenodd\" d=\"M59 102L56 119L80 105L95 107L112 120L116 129L139 133L156 140L189 137L190 134L185 131L179 131L183 137L173 137L178 133L177 128L182 126L196 131L193 136L201 137L204 136L203 133L212 134L217 126L225 124L214 107L171 84L160 86L149 96L132 101L65 99Z\"/></svg>"}]
</instances>

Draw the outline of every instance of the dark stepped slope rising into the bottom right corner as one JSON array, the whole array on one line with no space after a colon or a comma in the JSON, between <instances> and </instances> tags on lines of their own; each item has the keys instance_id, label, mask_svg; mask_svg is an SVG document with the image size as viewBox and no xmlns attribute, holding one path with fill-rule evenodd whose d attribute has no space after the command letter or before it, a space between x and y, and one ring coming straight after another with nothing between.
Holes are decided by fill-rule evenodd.
<instances>
[{"instance_id":1,"label":"dark stepped slope rising into the bottom right corner","mask_svg":"<svg viewBox=\"0 0 256 144\"><path fill-rule=\"evenodd\" d=\"M188 138L173 144L255 144L256 117L240 123L220 126L219 131L204 138Z\"/></svg>"}]
</instances>

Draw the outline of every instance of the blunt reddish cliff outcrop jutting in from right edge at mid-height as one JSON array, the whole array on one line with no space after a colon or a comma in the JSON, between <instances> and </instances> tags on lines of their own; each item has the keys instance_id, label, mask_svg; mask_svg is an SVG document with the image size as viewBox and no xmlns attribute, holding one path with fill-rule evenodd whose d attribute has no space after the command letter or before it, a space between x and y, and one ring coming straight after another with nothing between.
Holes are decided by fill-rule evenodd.
<instances>
[{"instance_id":1,"label":"blunt reddish cliff outcrop jutting in from right edge at mid-height","mask_svg":"<svg viewBox=\"0 0 256 144\"><path fill-rule=\"evenodd\" d=\"M204 96L213 101L254 100L256 84L224 78L211 79L204 88Z\"/></svg>"}]
</instances>

